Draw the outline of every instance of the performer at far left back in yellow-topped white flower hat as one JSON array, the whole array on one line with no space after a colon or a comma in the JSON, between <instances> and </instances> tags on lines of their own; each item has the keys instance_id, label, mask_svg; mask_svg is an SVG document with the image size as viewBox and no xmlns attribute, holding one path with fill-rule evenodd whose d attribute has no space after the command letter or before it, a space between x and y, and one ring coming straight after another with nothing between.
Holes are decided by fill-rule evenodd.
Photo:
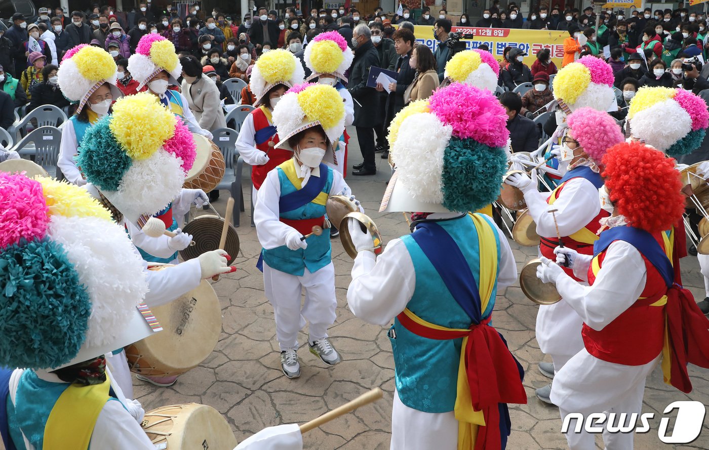
<instances>
[{"instance_id":1,"label":"performer at far left back in yellow-topped white flower hat","mask_svg":"<svg viewBox=\"0 0 709 450\"><path fill-rule=\"evenodd\" d=\"M74 115L62 128L57 167L69 182L82 186L86 180L74 157L81 151L84 133L108 114L113 101L123 96L116 87L116 62L100 47L77 45L64 55L57 76L62 94L77 104Z\"/></svg>"}]
</instances>

